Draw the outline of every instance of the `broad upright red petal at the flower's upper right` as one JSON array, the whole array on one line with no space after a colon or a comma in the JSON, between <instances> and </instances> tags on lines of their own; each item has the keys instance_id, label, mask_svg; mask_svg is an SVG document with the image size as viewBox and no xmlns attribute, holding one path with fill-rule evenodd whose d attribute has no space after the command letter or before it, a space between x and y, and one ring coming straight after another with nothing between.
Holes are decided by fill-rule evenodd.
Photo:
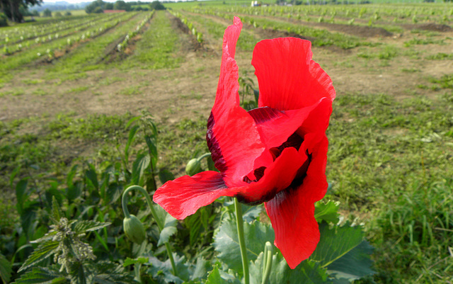
<instances>
[{"instance_id":1,"label":"broad upright red petal at the flower's upper right","mask_svg":"<svg viewBox=\"0 0 453 284\"><path fill-rule=\"evenodd\" d=\"M275 38L258 42L252 60L260 87L258 106L294 110L324 97L333 101L332 80L311 57L308 40Z\"/></svg>"}]
</instances>

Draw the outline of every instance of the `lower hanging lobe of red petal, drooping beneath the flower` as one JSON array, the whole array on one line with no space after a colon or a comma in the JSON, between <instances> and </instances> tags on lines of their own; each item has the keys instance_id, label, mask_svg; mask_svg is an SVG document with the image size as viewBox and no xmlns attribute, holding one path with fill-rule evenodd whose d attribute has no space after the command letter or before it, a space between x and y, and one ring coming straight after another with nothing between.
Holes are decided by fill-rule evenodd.
<instances>
[{"instance_id":1,"label":"lower hanging lobe of red petal, drooping beneath the flower","mask_svg":"<svg viewBox=\"0 0 453 284\"><path fill-rule=\"evenodd\" d=\"M319 242L314 203L305 195L300 188L280 191L275 198L265 203L275 230L274 244L292 269L308 259Z\"/></svg>"}]
</instances>

